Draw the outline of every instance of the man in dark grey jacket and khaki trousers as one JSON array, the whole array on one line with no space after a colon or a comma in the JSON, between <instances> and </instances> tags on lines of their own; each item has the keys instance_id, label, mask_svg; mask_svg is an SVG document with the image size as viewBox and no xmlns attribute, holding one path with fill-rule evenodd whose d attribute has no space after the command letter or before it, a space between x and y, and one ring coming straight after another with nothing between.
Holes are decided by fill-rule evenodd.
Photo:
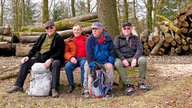
<instances>
[{"instance_id":1,"label":"man in dark grey jacket and khaki trousers","mask_svg":"<svg viewBox=\"0 0 192 108\"><path fill-rule=\"evenodd\" d=\"M125 22L122 24L122 34L114 39L117 58L115 68L117 69L121 80L127 86L126 95L131 95L134 91L134 85L127 76L126 68L130 69L139 66L138 88L140 90L149 90L144 84L147 60L142 56L143 47L140 38L132 34L132 24Z\"/></svg>"}]
</instances>

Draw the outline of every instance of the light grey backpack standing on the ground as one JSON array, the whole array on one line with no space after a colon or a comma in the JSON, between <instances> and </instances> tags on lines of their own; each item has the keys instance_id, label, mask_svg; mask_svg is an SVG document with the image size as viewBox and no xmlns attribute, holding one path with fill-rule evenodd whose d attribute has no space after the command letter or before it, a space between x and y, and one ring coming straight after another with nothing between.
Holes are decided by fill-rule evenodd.
<instances>
[{"instance_id":1,"label":"light grey backpack standing on the ground","mask_svg":"<svg viewBox=\"0 0 192 108\"><path fill-rule=\"evenodd\" d=\"M48 96L51 89L51 72L43 63L35 63L31 67L32 80L26 93L31 96Z\"/></svg>"}]
</instances>

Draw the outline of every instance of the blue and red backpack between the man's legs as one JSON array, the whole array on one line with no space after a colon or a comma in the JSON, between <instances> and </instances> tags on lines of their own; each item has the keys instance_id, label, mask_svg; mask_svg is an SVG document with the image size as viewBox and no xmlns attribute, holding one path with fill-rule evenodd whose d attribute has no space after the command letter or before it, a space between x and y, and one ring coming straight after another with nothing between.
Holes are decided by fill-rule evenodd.
<instances>
[{"instance_id":1,"label":"blue and red backpack between the man's legs","mask_svg":"<svg viewBox=\"0 0 192 108\"><path fill-rule=\"evenodd\" d=\"M108 73L102 70L96 72L95 80L93 77L91 77L91 75L88 76L88 89L92 98L105 97L107 92L112 88L110 83L107 85L107 87L104 86L104 74L106 74L105 76L109 77Z\"/></svg>"}]
</instances>

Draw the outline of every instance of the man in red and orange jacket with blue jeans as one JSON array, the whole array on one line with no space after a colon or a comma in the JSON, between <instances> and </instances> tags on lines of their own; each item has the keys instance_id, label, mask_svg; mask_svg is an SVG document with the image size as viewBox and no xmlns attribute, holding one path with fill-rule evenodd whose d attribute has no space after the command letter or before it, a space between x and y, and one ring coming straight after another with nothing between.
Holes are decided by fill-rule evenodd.
<instances>
[{"instance_id":1,"label":"man in red and orange jacket with blue jeans","mask_svg":"<svg viewBox=\"0 0 192 108\"><path fill-rule=\"evenodd\" d=\"M73 70L78 66L81 68L81 85L83 85L84 64L86 62L86 39L87 36L82 34L82 27L75 24L73 26L73 35L65 40L64 58L67 61L65 64L65 72L69 82L68 93L71 93L75 88Z\"/></svg>"}]
</instances>

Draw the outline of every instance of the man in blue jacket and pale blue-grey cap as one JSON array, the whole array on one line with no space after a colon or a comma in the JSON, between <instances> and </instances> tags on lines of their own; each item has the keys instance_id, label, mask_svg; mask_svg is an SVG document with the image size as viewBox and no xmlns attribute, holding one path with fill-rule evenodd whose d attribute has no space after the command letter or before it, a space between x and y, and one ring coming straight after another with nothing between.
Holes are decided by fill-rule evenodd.
<instances>
[{"instance_id":1,"label":"man in blue jacket and pale blue-grey cap","mask_svg":"<svg viewBox=\"0 0 192 108\"><path fill-rule=\"evenodd\" d=\"M104 85L107 86L109 83L113 84L113 63L114 58L114 45L112 38L103 30L103 26L99 22L95 22L91 26L92 34L88 37L86 42L86 56L87 62L85 64L85 80L84 80L84 96L88 97L88 85L87 85L87 73L95 77L95 69L98 65L103 66L110 77L105 77ZM109 93L111 90L109 90Z\"/></svg>"}]
</instances>

